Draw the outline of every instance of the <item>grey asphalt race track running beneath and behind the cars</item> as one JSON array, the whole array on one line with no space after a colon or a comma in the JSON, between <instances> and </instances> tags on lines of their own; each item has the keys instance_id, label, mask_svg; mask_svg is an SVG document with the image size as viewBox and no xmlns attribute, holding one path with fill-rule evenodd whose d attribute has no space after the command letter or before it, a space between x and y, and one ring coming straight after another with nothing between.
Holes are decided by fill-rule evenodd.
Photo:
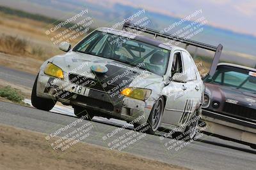
<instances>
[{"instance_id":1,"label":"grey asphalt race track running beneath and behind the cars","mask_svg":"<svg viewBox=\"0 0 256 170\"><path fill-rule=\"evenodd\" d=\"M1 79L18 85L32 87L35 75L0 67L0 81ZM61 127L64 128L76 121L76 117L36 110L35 108L19 106L17 104L0 103L0 124L44 132L45 136L54 134ZM67 130L58 135L65 136L70 132L76 131L79 127L84 127L86 123L88 123L86 120L78 122L76 126L68 127ZM111 123L91 122L91 124L90 136L82 141L93 145L111 148L116 143L134 135L136 136L134 138L137 139L134 143L129 145L122 143L120 145L127 146L122 152L134 153L150 159L157 159L192 169L255 169L255 150L231 141L203 135L199 141L187 143L186 146L183 143L172 149L169 147L168 150L168 146L171 146L168 145L168 142L172 140L171 138L136 134L136 132L129 129L119 131L120 129ZM125 138L123 138L124 136ZM47 142L46 139L45 142ZM179 141L172 142L178 143ZM120 146L116 149L120 149ZM184 148L181 148L181 146L184 146Z\"/></svg>"}]
</instances>

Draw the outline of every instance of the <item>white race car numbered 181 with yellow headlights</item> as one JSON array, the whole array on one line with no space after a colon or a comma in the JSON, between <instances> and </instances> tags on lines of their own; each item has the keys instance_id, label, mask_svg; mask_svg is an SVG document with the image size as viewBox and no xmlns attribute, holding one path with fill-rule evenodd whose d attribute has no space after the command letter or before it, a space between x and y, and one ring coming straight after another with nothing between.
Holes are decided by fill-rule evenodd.
<instances>
[{"instance_id":1,"label":"white race car numbered 181 with yellow headlights","mask_svg":"<svg viewBox=\"0 0 256 170\"><path fill-rule=\"evenodd\" d=\"M124 28L166 37L129 23ZM204 84L184 48L127 31L99 28L74 48L63 42L60 49L67 53L46 60L40 67L31 96L35 108L49 111L60 101L87 120L95 115L118 118L149 134L179 127L177 132L195 136L198 119L189 121L201 113Z\"/></svg>"}]
</instances>

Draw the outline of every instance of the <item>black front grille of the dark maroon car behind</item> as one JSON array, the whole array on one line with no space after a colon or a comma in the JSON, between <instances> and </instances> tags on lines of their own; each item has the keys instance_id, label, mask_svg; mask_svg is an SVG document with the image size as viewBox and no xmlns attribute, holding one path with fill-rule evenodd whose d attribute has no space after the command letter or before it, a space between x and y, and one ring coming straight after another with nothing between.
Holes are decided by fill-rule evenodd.
<instances>
[{"instance_id":1,"label":"black front grille of the dark maroon car behind","mask_svg":"<svg viewBox=\"0 0 256 170\"><path fill-rule=\"evenodd\" d=\"M225 103L223 111L230 115L234 115L235 117L237 116L256 120L256 110L252 108L246 108L232 103Z\"/></svg>"}]
</instances>

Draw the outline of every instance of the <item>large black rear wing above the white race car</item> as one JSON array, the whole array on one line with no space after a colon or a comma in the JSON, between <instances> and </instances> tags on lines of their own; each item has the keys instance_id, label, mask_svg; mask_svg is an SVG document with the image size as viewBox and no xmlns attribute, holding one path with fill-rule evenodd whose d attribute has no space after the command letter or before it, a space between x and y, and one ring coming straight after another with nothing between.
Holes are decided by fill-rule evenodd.
<instances>
[{"instance_id":1,"label":"large black rear wing above the white race car","mask_svg":"<svg viewBox=\"0 0 256 170\"><path fill-rule=\"evenodd\" d=\"M211 68L208 73L209 76L212 76L215 73L217 64L220 60L221 51L223 49L223 46L221 44L219 44L218 46L212 46L212 45L208 45L198 41L193 41L191 39L181 38L179 36L173 36L172 34L167 34L165 32L159 32L154 29L149 29L147 27L141 27L140 25L134 25L134 24L131 24L130 22L125 22L122 29L125 31L127 31L128 29L134 29L137 31L145 32L147 34L152 34L154 35L155 38L157 38L157 36L162 38L168 38L168 39L172 39L173 41L184 43L186 44L186 46L189 46L189 45L196 46L198 48L204 48L205 50L210 50L212 52L215 52L214 58L212 60Z\"/></svg>"}]
</instances>

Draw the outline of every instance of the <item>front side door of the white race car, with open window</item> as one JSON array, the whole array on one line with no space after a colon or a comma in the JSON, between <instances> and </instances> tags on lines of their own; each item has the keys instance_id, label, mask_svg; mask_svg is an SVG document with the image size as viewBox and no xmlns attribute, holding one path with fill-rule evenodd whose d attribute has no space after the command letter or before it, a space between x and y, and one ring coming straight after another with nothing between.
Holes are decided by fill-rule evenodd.
<instances>
[{"instance_id":1,"label":"front side door of the white race car, with open window","mask_svg":"<svg viewBox=\"0 0 256 170\"><path fill-rule=\"evenodd\" d=\"M185 73L182 52L178 50L175 51L173 55L170 83L163 89L163 94L166 95L166 106L162 122L164 124L179 125L180 118L184 114L184 108L188 98L188 93L186 92L188 87L187 83L173 81L172 76L174 73Z\"/></svg>"}]
</instances>

